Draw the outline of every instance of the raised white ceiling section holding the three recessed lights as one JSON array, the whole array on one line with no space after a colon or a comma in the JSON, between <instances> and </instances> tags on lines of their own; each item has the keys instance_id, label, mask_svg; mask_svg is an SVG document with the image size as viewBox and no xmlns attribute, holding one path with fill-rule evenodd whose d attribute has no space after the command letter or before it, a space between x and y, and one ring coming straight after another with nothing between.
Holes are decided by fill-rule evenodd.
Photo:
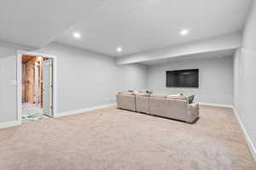
<instances>
[{"instance_id":1,"label":"raised white ceiling section holding the three recessed lights","mask_svg":"<svg viewBox=\"0 0 256 170\"><path fill-rule=\"evenodd\" d=\"M110 0L57 38L57 42L111 56L241 31L250 0ZM182 37L179 31L189 29ZM73 31L82 34L75 40ZM123 52L118 53L117 47Z\"/></svg>"}]
</instances>

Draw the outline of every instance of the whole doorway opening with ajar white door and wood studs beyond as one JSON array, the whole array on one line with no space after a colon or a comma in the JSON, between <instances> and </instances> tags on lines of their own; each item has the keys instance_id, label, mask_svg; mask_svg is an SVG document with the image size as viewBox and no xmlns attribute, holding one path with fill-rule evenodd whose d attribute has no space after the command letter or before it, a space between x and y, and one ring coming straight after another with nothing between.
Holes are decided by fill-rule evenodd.
<instances>
[{"instance_id":1,"label":"whole doorway opening with ajar white door and wood studs beyond","mask_svg":"<svg viewBox=\"0 0 256 170\"><path fill-rule=\"evenodd\" d=\"M53 116L52 59L22 55L21 121L33 122Z\"/></svg>"}]
</instances>

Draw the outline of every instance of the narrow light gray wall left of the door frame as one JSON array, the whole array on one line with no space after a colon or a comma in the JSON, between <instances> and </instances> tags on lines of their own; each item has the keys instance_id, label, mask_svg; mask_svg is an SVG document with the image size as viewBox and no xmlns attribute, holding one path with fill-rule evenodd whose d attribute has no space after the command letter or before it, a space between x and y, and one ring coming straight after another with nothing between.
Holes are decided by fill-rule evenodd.
<instances>
[{"instance_id":1,"label":"narrow light gray wall left of the door frame","mask_svg":"<svg viewBox=\"0 0 256 170\"><path fill-rule=\"evenodd\" d=\"M1 123L17 121L17 87L15 84L17 50L32 50L19 44L0 41L0 128ZM9 124L9 123L7 123ZM5 127L5 126L3 126Z\"/></svg>"}]
</instances>

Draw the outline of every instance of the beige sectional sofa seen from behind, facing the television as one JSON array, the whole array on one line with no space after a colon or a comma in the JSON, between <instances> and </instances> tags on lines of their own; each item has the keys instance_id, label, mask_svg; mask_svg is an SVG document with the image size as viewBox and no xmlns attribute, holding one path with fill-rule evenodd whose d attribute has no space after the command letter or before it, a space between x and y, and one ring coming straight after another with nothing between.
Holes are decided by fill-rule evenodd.
<instances>
[{"instance_id":1,"label":"beige sectional sofa seen from behind, facing the television","mask_svg":"<svg viewBox=\"0 0 256 170\"><path fill-rule=\"evenodd\" d=\"M183 122L195 122L199 116L198 103L189 104L184 95L150 95L122 92L117 94L117 107Z\"/></svg>"}]
</instances>

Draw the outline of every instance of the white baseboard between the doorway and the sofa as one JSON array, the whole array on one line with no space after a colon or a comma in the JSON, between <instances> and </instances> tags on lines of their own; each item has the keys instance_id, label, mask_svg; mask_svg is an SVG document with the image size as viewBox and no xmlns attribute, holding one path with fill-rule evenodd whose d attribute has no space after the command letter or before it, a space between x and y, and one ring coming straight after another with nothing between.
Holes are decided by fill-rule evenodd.
<instances>
[{"instance_id":1,"label":"white baseboard between the doorway and the sofa","mask_svg":"<svg viewBox=\"0 0 256 170\"><path fill-rule=\"evenodd\" d=\"M84 113L87 111L95 111L98 109L105 109L105 108L111 107L113 105L116 105L116 103L108 104L108 105L98 105L98 106L93 106L93 107L88 107L88 108L73 110L73 111L64 111L64 112L57 113L55 117L76 115L76 114Z\"/></svg>"}]
</instances>

